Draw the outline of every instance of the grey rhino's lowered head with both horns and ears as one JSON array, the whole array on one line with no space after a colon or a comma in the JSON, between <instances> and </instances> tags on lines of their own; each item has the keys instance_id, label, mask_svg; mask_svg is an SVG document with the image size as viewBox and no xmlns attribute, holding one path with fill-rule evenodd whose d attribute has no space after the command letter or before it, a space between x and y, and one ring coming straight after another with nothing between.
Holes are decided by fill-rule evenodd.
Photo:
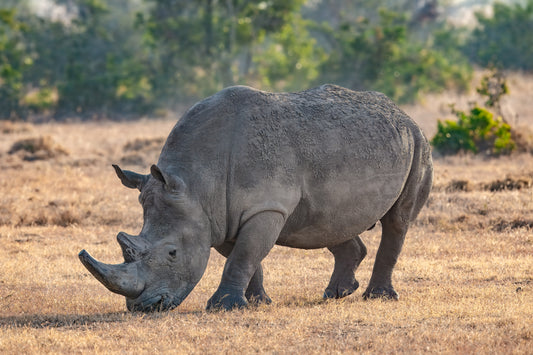
<instances>
[{"instance_id":1,"label":"grey rhino's lowered head with both horns and ears","mask_svg":"<svg viewBox=\"0 0 533 355\"><path fill-rule=\"evenodd\" d=\"M140 190L143 228L117 235L124 263L109 265L82 250L83 265L110 291L126 297L130 311L177 307L200 281L210 252L209 220L177 176L156 165L148 175L113 165L122 184Z\"/></svg>"}]
</instances>

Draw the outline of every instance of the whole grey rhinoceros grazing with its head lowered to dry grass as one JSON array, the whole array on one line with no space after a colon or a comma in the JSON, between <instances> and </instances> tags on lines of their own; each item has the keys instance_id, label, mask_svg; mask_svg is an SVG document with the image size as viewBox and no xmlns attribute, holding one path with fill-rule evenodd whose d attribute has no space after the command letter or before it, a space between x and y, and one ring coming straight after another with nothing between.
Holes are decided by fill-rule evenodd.
<instances>
[{"instance_id":1,"label":"whole grey rhinoceros grazing with its head lowered to dry grass","mask_svg":"<svg viewBox=\"0 0 533 355\"><path fill-rule=\"evenodd\" d=\"M391 275L410 223L428 198L431 149L389 98L323 85L298 93L226 88L192 106L143 175L114 165L140 191L138 236L118 233L124 263L85 250L83 265L130 311L177 307L202 277L211 248L226 263L208 310L271 303L261 261L275 244L328 248L324 298L359 286L359 235L381 222L365 299L398 299Z\"/></svg>"}]
</instances>

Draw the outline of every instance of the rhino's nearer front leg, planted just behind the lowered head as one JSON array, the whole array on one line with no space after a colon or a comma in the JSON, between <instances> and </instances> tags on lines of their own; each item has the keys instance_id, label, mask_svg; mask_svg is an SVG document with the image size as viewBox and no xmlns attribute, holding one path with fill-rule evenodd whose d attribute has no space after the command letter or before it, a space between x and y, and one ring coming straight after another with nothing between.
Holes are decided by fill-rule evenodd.
<instances>
[{"instance_id":1,"label":"rhino's nearer front leg, planted just behind the lowered head","mask_svg":"<svg viewBox=\"0 0 533 355\"><path fill-rule=\"evenodd\" d=\"M283 224L281 213L265 211L254 215L241 226L235 246L226 260L220 285L207 302L208 310L230 310L248 305L245 290L260 269L261 261L274 246ZM259 278L262 279L262 273L255 280L262 284Z\"/></svg>"}]
</instances>

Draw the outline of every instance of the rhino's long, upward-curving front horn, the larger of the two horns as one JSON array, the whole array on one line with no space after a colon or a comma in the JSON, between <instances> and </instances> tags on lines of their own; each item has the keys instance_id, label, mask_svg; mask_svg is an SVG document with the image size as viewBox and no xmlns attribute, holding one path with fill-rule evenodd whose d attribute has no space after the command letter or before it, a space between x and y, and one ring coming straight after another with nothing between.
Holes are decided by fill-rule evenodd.
<instances>
[{"instance_id":1,"label":"rhino's long, upward-curving front horn, the larger of the two horns","mask_svg":"<svg viewBox=\"0 0 533 355\"><path fill-rule=\"evenodd\" d=\"M128 298L137 298L144 290L139 280L136 263L109 265L95 260L85 250L79 253L81 263L109 291Z\"/></svg>"}]
</instances>

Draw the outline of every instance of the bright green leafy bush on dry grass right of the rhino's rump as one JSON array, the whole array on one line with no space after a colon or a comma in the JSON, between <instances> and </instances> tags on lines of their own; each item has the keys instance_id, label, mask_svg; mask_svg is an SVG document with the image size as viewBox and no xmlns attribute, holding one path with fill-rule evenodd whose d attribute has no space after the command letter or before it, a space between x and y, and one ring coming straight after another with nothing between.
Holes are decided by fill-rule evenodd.
<instances>
[{"instance_id":1,"label":"bright green leafy bush on dry grass right of the rhino's rump","mask_svg":"<svg viewBox=\"0 0 533 355\"><path fill-rule=\"evenodd\" d=\"M437 134L431 144L442 154L485 152L490 155L508 154L515 148L511 126L487 109L474 107L470 112L453 112L457 121L438 121Z\"/></svg>"}]
</instances>

